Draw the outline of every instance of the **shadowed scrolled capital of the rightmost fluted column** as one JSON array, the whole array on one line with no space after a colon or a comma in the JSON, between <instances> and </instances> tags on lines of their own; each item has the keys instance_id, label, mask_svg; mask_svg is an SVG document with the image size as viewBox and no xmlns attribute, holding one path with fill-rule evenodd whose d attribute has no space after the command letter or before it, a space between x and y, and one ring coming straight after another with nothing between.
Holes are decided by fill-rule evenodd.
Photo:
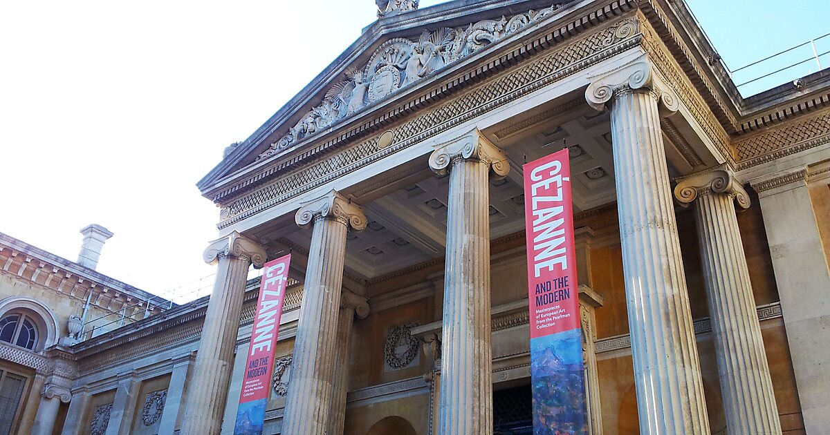
<instances>
[{"instance_id":1,"label":"shadowed scrolled capital of the rightmost fluted column","mask_svg":"<svg viewBox=\"0 0 830 435\"><path fill-rule=\"evenodd\" d=\"M681 205L689 205L699 196L719 193L731 196L741 208L749 208L749 195L735 178L735 174L725 165L681 178L675 186L674 193Z\"/></svg>"}]
</instances>

